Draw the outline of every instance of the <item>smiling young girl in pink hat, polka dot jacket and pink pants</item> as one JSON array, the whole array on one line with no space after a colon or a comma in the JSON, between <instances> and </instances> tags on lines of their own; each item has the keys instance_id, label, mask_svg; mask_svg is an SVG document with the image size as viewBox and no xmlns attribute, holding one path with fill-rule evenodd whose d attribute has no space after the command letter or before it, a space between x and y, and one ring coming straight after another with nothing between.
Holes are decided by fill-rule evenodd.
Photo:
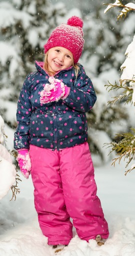
<instances>
[{"instance_id":1,"label":"smiling young girl in pink hat, polka dot jacket and pink pants","mask_svg":"<svg viewBox=\"0 0 135 256\"><path fill-rule=\"evenodd\" d=\"M18 165L24 177L31 173L39 225L54 246L69 243L72 223L80 239L108 237L87 143L85 113L96 95L78 64L82 26L73 16L53 30L45 60L35 62L37 71L27 75L17 104Z\"/></svg>"}]
</instances>

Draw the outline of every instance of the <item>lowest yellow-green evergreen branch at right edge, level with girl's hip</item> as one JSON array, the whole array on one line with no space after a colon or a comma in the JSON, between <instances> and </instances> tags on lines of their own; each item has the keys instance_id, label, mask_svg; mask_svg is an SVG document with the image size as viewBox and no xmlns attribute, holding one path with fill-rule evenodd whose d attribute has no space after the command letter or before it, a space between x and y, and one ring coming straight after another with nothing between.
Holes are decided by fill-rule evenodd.
<instances>
[{"instance_id":1,"label":"lowest yellow-green evergreen branch at right edge, level with girl's hip","mask_svg":"<svg viewBox=\"0 0 135 256\"><path fill-rule=\"evenodd\" d=\"M116 142L111 142L109 144L105 144L108 147L111 147L111 152L115 151L116 152L116 158L112 159L112 164L113 166L115 166L116 161L118 161L118 164L120 163L121 159L123 159L125 161L125 159L127 159L126 162L126 166L125 168L127 168L127 166L129 165L129 163L135 159L135 129L131 129L132 133L126 133L126 134L116 134L115 139L120 136L123 139L120 140L120 142L116 143ZM110 154L109 153L109 154ZM125 171L125 175L130 172L131 170L135 169L135 165L133 165L130 169L128 169L127 171Z\"/></svg>"}]
</instances>

